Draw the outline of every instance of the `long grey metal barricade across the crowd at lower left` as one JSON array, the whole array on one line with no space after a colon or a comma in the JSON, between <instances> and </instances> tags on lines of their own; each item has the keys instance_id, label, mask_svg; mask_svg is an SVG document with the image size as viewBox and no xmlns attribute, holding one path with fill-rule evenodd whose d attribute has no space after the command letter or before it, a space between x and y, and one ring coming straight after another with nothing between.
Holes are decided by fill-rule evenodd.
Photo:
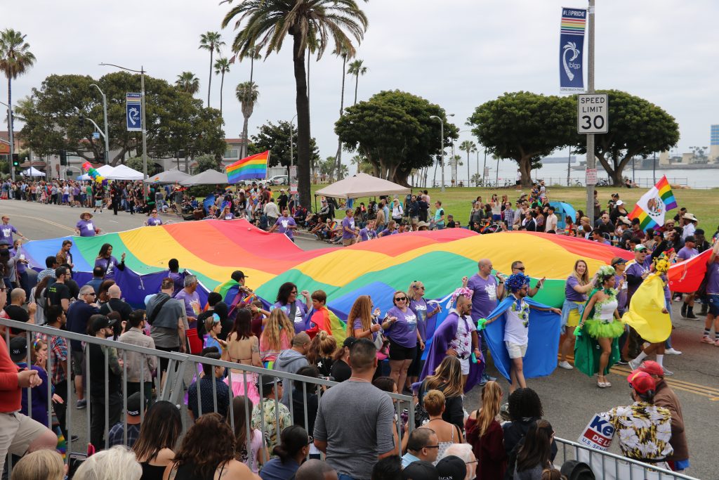
<instances>
[{"instance_id":1,"label":"long grey metal barricade across the crowd at lower left","mask_svg":"<svg viewBox=\"0 0 719 480\"><path fill-rule=\"evenodd\" d=\"M7 319L1 319L0 318L0 325L5 327L5 340L6 343L9 344L10 340L10 331L9 327L12 327L16 330L19 330L22 332L21 335L25 335L28 341L28 358L27 363L28 365L32 365L32 361L30 358L30 349L32 348L32 341L36 338L38 333L44 333L51 336L58 336L61 338L64 338L67 345L68 345L68 357L67 357L67 365L66 365L66 371L68 375L67 379L67 396L65 400L65 407L66 407L66 417L65 417L65 426L68 431L68 438L67 440L67 452L73 452L73 451L80 451L83 452L86 450L86 445L89 443L91 438L91 384L92 384L92 376L91 376L91 365L90 365L90 358L88 355L84 356L83 363L85 366L84 377L83 377L83 383L85 384L85 391L86 395L85 398L87 399L87 407L86 407L86 415L85 419L83 421L82 414L76 413L77 419L74 419L75 415L73 415L73 409L75 401L77 399L77 396L75 394L74 390L74 382L71 377L72 372L72 366L71 366L71 359L72 359L72 352L73 348L71 345L70 340L79 340L83 342L83 350L87 350L88 345L101 345L105 347L112 347L117 350L118 358L122 359L123 366L122 366L122 415L120 421L124 424L123 429L123 443L127 445L127 422L124 422L124 420L127 417L127 353L128 352L134 352L139 353L145 356L155 356L157 358L157 375L153 376L152 383L153 383L153 391L155 392L155 400L167 400L169 402L172 402L180 409L180 414L182 417L183 422L183 429L182 434L186 433L188 428L191 426L193 419L191 415L188 414L188 405L186 402L186 393L188 392L188 389L190 386L195 383L195 386L193 388L196 388L197 392L197 399L198 399L198 415L202 415L203 412L218 412L218 402L217 402L217 385L215 382L212 384L212 401L211 402L203 402L202 395L200 391L200 384L196 380L199 379L198 373L201 371L201 364L210 364L212 366L217 366L224 368L224 371L226 373L226 384L228 385L229 389L229 408L227 412L218 412L219 414L223 415L224 417L227 417L229 414L229 424L232 427L232 430L234 430L234 424L235 424L235 416L234 416L234 409L232 408L232 403L234 399L233 389L232 389L232 382L233 382L233 376L242 375L242 381L244 383L244 392L247 393L247 385L248 382L252 382L251 379L249 379L249 376L254 375L263 375L263 376L274 376L274 384L275 384L275 391L277 391L277 384L278 381L283 381L283 385L290 389L289 391L289 407L288 410L290 412L290 425L295 424L296 418L301 418L303 420L303 424L308 425L309 420L309 412L308 412L308 399L311 398L311 395L316 395L319 401L321 401L321 396L324 394L324 391L326 389L331 388L331 386L336 385L336 382L329 381L322 378L313 379L311 377L307 376L301 376L294 373L285 373L281 371L275 371L275 370L267 370L266 368L257 368L253 366L247 366L242 365L240 363L234 363L229 361L222 361L222 360L214 360L210 358L203 358L201 356L194 356L194 355L188 355L185 353L177 353L177 352L166 352L162 350L155 350L152 348L145 348L140 347L137 345L130 345L128 343L122 343L116 340L105 340L101 338L91 337L88 335L81 335L74 332L68 332L66 330L58 330L57 328L48 327L47 325L35 325L35 324L29 324L29 323L23 323L23 322L16 322L14 320L7 320ZM161 381L160 376L160 358L165 358L168 360L168 370L165 374L165 381ZM142 409L140 409L141 412L141 422L144 420L145 417L145 389L144 389L144 366L145 362L141 362L141 369L140 369L140 375L139 375L139 391L140 391L140 397L141 397L141 405L143 406ZM46 385L43 385L41 388L47 388L47 409L48 409L48 417L47 417L47 423L48 427L52 429L52 351L48 350L47 353L47 364L45 366L47 371L47 377L48 380ZM109 358L108 358L108 350L104 350L104 375L105 379L108 378L109 373ZM233 370L235 372L233 372ZM241 371L241 373L237 373L237 371ZM214 368L212 369L212 374L214 375ZM295 412L294 406L293 406L293 397L295 397L295 392L293 391L293 383L294 382L300 382L301 384L301 394L303 396L303 411L302 412ZM260 402L262 402L262 399L264 397L264 391L262 391L262 385L258 385L257 390L260 394ZM300 390L300 389L298 389ZM32 412L32 389L27 389L28 391L28 410L29 412ZM397 425L400 425L400 417L402 416L402 412L404 409L406 409L408 412L408 430L406 432L402 432L402 429L399 429L398 436L399 436L399 442L401 445L402 438L404 435L408 435L411 430L413 430L414 425L414 404L412 397L406 396L406 395L400 395L400 394L389 394L388 395L393 399L393 403L395 404L395 410L396 410L396 416L395 420ZM280 402L280 399L274 399L272 400L275 402L275 407L277 407L277 403ZM251 404L251 402L250 402ZM108 433L111 427L113 425L109 425L109 409L107 408L109 406L109 382L104 382L104 439L105 439L105 445L101 445L101 447L107 448L109 446L109 438ZM277 435L277 438L280 437L280 418L278 413L278 408L275 408L275 434ZM260 410L261 412L261 410ZM300 415L300 417L298 417ZM259 416L259 425L255 425L257 427L257 430L260 430L262 435L265 435L265 418L264 415L258 415ZM73 421L74 419L74 421ZM246 428L246 435L245 438L247 440L247 455L251 455L251 435L253 425L252 425L252 411L250 410L247 402L245 403L245 412L244 412L244 425ZM83 428L83 422L85 423ZM349 425L348 425L349 427ZM82 431L84 430L84 432ZM308 434L312 435L313 433L308 430ZM78 435L78 440L73 442L72 436ZM75 443L79 445L83 445L81 448L75 448L73 450L73 445ZM178 439L178 445L179 445L179 439ZM265 445L265 443L263 443ZM271 455L272 452L267 451L266 448L262 448L262 457L265 461L267 461L267 456ZM12 459L8 458L8 466L12 469L12 463L10 463Z\"/></svg>"}]
</instances>

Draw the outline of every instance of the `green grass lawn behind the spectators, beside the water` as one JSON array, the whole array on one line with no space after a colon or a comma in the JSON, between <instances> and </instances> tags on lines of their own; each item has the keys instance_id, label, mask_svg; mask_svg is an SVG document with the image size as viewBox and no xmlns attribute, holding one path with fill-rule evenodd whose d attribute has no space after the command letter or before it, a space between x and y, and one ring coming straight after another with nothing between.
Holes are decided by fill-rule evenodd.
<instances>
[{"instance_id":1,"label":"green grass lawn behind the spectators, beside the water","mask_svg":"<svg viewBox=\"0 0 719 480\"><path fill-rule=\"evenodd\" d=\"M325 185L313 185L312 194L323 188ZM279 189L280 187L275 187ZM274 189L273 189L274 190ZM413 193L421 189L413 189ZM422 189L423 190L423 189ZM516 199L523 193L529 193L530 189L518 190L515 187L506 189L477 189L477 188L447 188L441 192L440 189L427 189L432 205L431 211L434 212L434 201L440 200L446 214L454 216L455 220L462 222L462 226L467 225L467 219L472 209L472 200L477 196L482 196L482 200L486 201L492 197L492 194L507 195L510 201L514 203ZM610 195L614 192L619 193L619 198L627 202L627 210L631 212L634 203L642 196L646 189L617 189L615 187L600 187L599 199L603 207L606 206ZM571 204L575 209L586 209L586 189L582 187L567 186L548 186L547 193L550 201L565 201ZM699 189L675 189L674 196L677 199L679 207L687 207L687 210L699 219L699 227L706 231L707 236L713 235L719 225L719 189L699 190ZM370 199L358 199L364 201L365 204ZM318 199L319 204L319 199ZM673 217L678 212L674 209L669 212L669 217Z\"/></svg>"}]
</instances>

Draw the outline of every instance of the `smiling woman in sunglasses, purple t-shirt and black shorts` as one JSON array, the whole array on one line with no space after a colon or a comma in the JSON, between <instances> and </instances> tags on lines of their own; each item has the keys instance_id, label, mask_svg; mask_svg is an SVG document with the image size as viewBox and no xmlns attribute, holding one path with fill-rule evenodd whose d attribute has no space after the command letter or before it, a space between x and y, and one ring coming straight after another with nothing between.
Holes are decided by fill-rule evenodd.
<instances>
[{"instance_id":1,"label":"smiling woman in sunglasses, purple t-shirt and black shorts","mask_svg":"<svg viewBox=\"0 0 719 480\"><path fill-rule=\"evenodd\" d=\"M424 350L424 342L417 329L417 315L409 307L409 297L403 291L392 296L395 306L388 310L382 322L390 340L390 378L404 386L407 371L416 354L417 346Z\"/></svg>"}]
</instances>

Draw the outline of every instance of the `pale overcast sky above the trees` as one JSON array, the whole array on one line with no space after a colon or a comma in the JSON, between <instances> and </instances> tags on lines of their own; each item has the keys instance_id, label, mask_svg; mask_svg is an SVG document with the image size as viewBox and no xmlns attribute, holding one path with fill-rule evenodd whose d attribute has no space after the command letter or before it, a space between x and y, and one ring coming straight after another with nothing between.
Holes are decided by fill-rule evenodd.
<instances>
[{"instance_id":1,"label":"pale overcast sky above the trees","mask_svg":"<svg viewBox=\"0 0 719 480\"><path fill-rule=\"evenodd\" d=\"M235 0L237 3L238 0ZM52 73L95 78L111 71L101 62L129 68L144 65L156 77L175 81L193 71L206 99L209 54L198 50L200 34L219 31L227 4L218 0L35 0L3 9L0 27L27 35L37 63L13 84L14 99L30 93ZM597 89L621 89L642 96L679 122L679 150L708 145L719 123L716 55L719 40L715 0L602 0L597 2ZM386 89L423 96L454 113L461 130L473 109L505 91L559 93L559 0L370 0L362 3L370 27L358 48L367 74L358 99ZM221 32L227 43L234 32ZM228 50L224 55L231 56ZM226 136L239 137L242 112L234 86L249 80L249 62L235 64L225 78ZM334 155L333 124L339 115L342 61L332 55L311 63L312 135L322 157ZM295 114L291 41L278 55L255 63L260 101L250 135L267 120ZM347 78L345 105L354 100ZM6 83L0 96L7 98ZM211 105L219 107L219 78ZM460 133L461 140L470 132ZM475 139L476 140L476 139Z\"/></svg>"}]
</instances>

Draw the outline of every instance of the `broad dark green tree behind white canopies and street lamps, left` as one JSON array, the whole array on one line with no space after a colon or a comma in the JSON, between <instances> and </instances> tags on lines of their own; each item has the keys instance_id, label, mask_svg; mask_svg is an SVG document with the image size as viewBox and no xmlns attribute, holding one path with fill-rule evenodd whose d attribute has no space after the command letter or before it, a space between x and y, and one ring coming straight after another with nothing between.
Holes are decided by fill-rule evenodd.
<instances>
[{"instance_id":1,"label":"broad dark green tree behind white canopies and street lamps, left","mask_svg":"<svg viewBox=\"0 0 719 480\"><path fill-rule=\"evenodd\" d=\"M103 122L102 101L91 87L96 83L108 99L110 149L117 150L111 165L127 156L142 155L142 135L128 132L125 124L125 92L137 91L139 75L109 73L99 79L80 75L51 75L40 89L33 89L22 135L37 155L66 150L86 160L102 158L104 140L92 137L93 127L78 121L80 115ZM219 110L203 108L203 102L180 92L165 80L145 77L147 153L171 157L178 150L200 155L222 155L226 150Z\"/></svg>"}]
</instances>

